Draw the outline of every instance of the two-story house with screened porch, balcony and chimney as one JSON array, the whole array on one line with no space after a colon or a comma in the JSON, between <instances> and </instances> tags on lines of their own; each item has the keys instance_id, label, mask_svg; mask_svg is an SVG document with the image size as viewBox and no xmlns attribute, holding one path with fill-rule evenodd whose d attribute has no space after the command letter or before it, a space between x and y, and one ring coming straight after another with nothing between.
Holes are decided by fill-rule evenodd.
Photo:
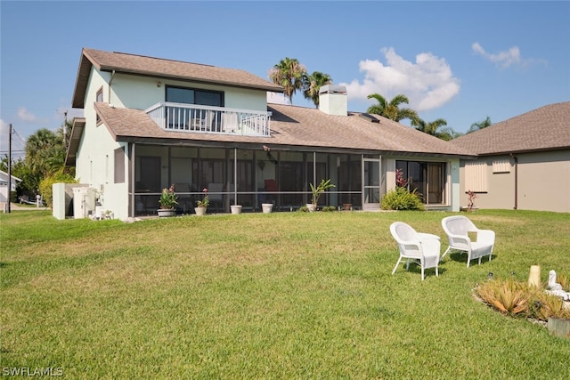
<instances>
[{"instance_id":1,"label":"two-story house with screened porch, balcony and chimney","mask_svg":"<svg viewBox=\"0 0 570 380\"><path fill-rule=\"evenodd\" d=\"M239 69L84 49L73 94L67 165L119 219L156 214L175 184L180 213L209 190L211 208L292 210L309 182L336 185L322 206L379 209L402 169L428 209L458 211L460 158L475 154L384 117L348 112L346 88L320 109L267 104L281 92Z\"/></svg>"}]
</instances>

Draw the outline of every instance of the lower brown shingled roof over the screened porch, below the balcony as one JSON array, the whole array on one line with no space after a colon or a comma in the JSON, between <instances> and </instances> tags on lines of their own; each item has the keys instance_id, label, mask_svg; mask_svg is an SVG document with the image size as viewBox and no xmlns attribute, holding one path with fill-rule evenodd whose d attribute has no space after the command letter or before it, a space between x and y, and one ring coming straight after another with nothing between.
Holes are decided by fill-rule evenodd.
<instances>
[{"instance_id":1,"label":"lower brown shingled roof over the screened porch, below the balcony","mask_svg":"<svg viewBox=\"0 0 570 380\"><path fill-rule=\"evenodd\" d=\"M373 150L429 156L474 158L475 154L385 117L377 123L361 117L330 116L318 109L270 104L271 137L166 131L139 109L112 108L95 103L95 109L116 141L204 145L216 143L259 144L282 149Z\"/></svg>"}]
</instances>

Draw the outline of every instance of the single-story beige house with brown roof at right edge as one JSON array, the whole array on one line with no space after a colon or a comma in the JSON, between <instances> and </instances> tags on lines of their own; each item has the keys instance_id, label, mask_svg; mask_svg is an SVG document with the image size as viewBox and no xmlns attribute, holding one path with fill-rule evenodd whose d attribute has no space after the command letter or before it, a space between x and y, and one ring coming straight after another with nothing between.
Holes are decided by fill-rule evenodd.
<instances>
[{"instance_id":1,"label":"single-story beige house with brown roof at right edge","mask_svg":"<svg viewBox=\"0 0 570 380\"><path fill-rule=\"evenodd\" d=\"M476 152L461 161L461 194L475 206L570 213L570 102L509 118L452 144ZM463 195L464 205L467 196Z\"/></svg>"}]
</instances>

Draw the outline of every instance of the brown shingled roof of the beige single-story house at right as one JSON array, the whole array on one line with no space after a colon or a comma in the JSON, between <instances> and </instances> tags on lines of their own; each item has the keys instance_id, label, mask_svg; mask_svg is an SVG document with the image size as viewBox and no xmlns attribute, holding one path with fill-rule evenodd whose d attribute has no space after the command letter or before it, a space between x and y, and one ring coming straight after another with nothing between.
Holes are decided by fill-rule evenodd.
<instances>
[{"instance_id":1,"label":"brown shingled roof of the beige single-story house at right","mask_svg":"<svg viewBox=\"0 0 570 380\"><path fill-rule=\"evenodd\" d=\"M534 109L451 142L478 155L570 149L570 101Z\"/></svg>"}]
</instances>

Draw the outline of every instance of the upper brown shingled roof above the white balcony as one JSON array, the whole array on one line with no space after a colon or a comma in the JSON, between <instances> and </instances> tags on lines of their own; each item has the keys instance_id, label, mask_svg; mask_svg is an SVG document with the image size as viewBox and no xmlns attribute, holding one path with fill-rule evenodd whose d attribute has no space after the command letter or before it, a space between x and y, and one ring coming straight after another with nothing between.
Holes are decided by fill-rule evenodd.
<instances>
[{"instance_id":1,"label":"upper brown shingled roof above the white balcony","mask_svg":"<svg viewBox=\"0 0 570 380\"><path fill-rule=\"evenodd\" d=\"M85 107L85 91L91 68L195 83L226 85L282 93L283 87L240 69L224 69L199 63L164 60L128 53L84 48L81 52L72 107Z\"/></svg>"}]
</instances>

